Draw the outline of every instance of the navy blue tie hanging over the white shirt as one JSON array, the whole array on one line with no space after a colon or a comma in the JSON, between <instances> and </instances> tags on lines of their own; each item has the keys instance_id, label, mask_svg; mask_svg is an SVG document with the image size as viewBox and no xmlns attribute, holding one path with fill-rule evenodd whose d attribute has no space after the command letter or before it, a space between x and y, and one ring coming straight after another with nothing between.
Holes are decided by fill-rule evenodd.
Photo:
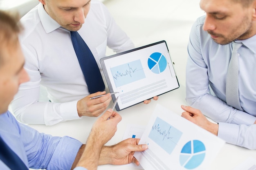
<instances>
[{"instance_id":1,"label":"navy blue tie hanging over the white shirt","mask_svg":"<svg viewBox=\"0 0 256 170\"><path fill-rule=\"evenodd\" d=\"M70 31L70 35L89 92L104 91L105 84L101 77L101 72L89 47L77 31Z\"/></svg>"}]
</instances>

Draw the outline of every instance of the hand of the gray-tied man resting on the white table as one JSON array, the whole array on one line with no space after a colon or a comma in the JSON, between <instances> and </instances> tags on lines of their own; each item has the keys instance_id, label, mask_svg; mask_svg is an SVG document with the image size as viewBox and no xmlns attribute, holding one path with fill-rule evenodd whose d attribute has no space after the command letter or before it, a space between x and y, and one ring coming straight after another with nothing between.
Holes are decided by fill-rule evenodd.
<instances>
[{"instance_id":1,"label":"hand of the gray-tied man resting on the white table","mask_svg":"<svg viewBox=\"0 0 256 170\"><path fill-rule=\"evenodd\" d=\"M182 117L185 119L188 119L189 121L193 122L194 124L197 124L201 128L204 128L205 130L208 130L209 132L213 133L214 135L218 135L218 129L219 125L214 124L210 122L200 110L192 108L190 106L184 106L182 105L181 108L185 110L185 112L182 113Z\"/></svg>"}]
</instances>

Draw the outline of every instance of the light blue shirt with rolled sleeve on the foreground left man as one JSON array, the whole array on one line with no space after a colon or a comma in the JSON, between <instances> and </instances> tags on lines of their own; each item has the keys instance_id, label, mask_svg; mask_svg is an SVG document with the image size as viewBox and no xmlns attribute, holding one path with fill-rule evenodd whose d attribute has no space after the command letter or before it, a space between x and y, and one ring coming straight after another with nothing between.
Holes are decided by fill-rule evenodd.
<instances>
[{"instance_id":1,"label":"light blue shirt with rolled sleeve on the foreground left man","mask_svg":"<svg viewBox=\"0 0 256 170\"><path fill-rule=\"evenodd\" d=\"M82 143L71 137L52 137L19 123L7 111L0 115L0 136L29 168L70 170ZM0 160L0 170L9 168ZM86 170L77 168L75 170Z\"/></svg>"}]
</instances>

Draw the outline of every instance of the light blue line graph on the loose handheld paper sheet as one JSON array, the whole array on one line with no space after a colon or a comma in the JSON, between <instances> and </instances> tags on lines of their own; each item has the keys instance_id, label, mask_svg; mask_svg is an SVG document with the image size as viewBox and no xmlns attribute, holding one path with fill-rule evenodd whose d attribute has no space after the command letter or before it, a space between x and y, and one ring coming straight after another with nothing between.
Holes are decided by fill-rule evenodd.
<instances>
[{"instance_id":1,"label":"light blue line graph on the loose handheld paper sheet","mask_svg":"<svg viewBox=\"0 0 256 170\"><path fill-rule=\"evenodd\" d=\"M155 123L148 135L150 139L157 143L168 154L173 152L181 136L182 132L180 130L177 130L159 117L155 119Z\"/></svg>"}]
</instances>

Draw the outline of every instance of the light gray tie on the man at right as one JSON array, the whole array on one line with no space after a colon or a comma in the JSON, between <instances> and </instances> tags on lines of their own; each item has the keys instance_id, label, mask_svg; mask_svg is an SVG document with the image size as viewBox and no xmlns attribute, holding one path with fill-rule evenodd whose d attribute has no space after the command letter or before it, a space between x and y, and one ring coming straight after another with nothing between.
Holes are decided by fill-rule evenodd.
<instances>
[{"instance_id":1,"label":"light gray tie on the man at right","mask_svg":"<svg viewBox=\"0 0 256 170\"><path fill-rule=\"evenodd\" d=\"M240 106L238 94L238 49L242 43L233 42L233 50L227 71L227 84L226 84L226 101L229 106L233 106L239 110L243 110Z\"/></svg>"}]
</instances>

